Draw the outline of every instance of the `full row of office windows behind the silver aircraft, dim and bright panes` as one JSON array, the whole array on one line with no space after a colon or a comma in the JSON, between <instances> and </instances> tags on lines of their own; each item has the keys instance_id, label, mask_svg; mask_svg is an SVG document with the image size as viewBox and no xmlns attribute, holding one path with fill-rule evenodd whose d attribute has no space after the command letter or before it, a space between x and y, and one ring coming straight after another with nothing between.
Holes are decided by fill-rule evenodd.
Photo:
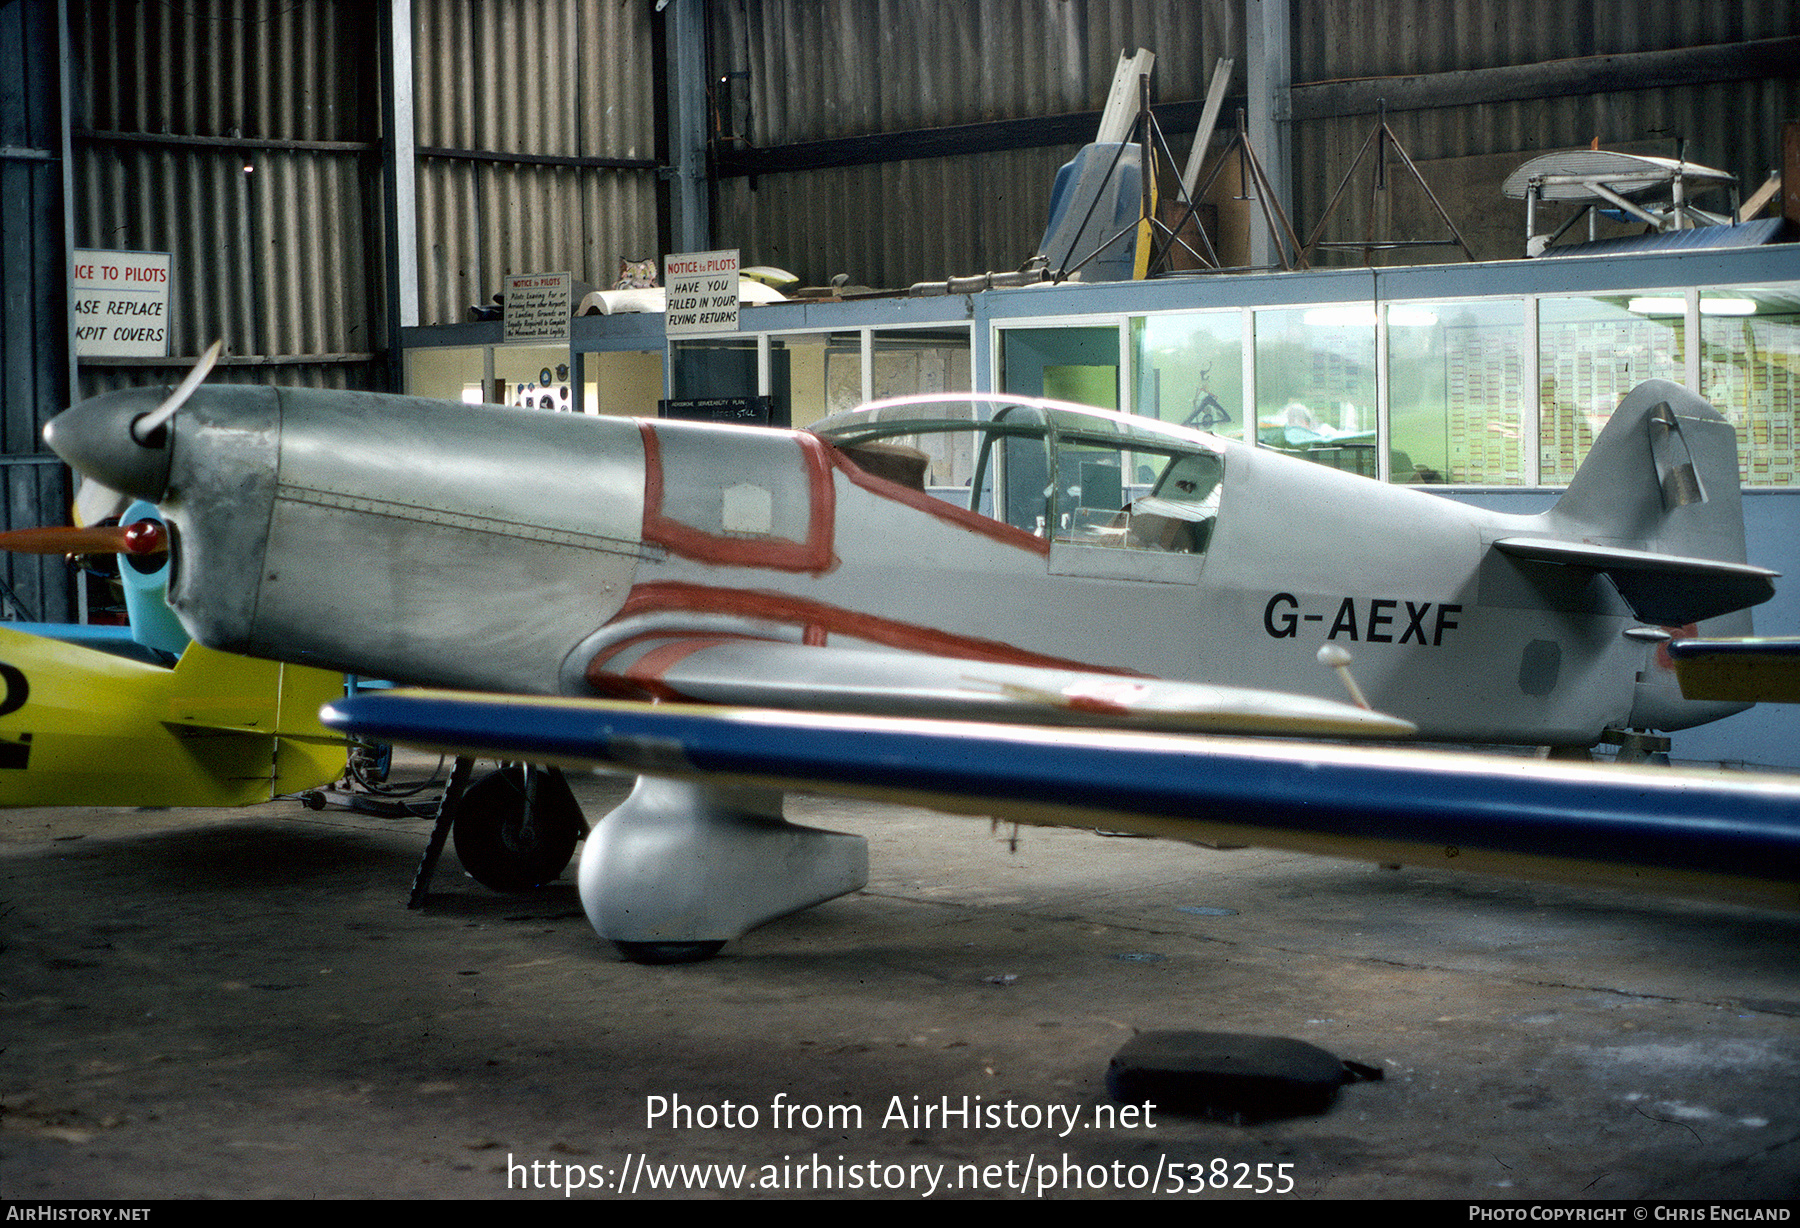
<instances>
[{"instance_id":1,"label":"full row of office windows behind the silver aircraft, dim and bright panes","mask_svg":"<svg viewBox=\"0 0 1800 1228\"><path fill-rule=\"evenodd\" d=\"M866 400L992 389L1123 409L1382 481L1472 488L1566 484L1620 398L1661 378L1732 421L1746 486L1800 481L1795 281L1035 312L985 326L986 353L967 324L841 326L583 353L419 346L407 369L414 393L445 400L655 416L664 400L720 398L792 427Z\"/></svg>"}]
</instances>

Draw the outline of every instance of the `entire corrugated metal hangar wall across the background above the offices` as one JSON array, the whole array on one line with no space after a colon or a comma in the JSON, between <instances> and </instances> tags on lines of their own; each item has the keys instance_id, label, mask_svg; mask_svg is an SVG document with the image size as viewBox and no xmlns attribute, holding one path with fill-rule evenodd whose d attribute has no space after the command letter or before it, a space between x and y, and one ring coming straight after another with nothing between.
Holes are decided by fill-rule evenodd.
<instances>
[{"instance_id":1,"label":"entire corrugated metal hangar wall across the background above the offices","mask_svg":"<svg viewBox=\"0 0 1800 1228\"><path fill-rule=\"evenodd\" d=\"M1258 119L1292 117L1301 232L1386 103L1483 257L1519 254L1523 212L1499 180L1532 153L1683 142L1748 193L1800 115L1796 0L682 5L702 0L0 4L11 522L61 513L41 506L59 490L20 474L45 468L34 430L70 393L169 380L212 337L214 378L385 387L400 324L466 319L506 272L607 284L619 259L691 234L668 203L684 63L706 76L709 243L871 286L1030 256L1055 169L1093 137L1134 47L1157 54L1177 158L1222 56L1237 61L1226 131L1238 104L1271 142L1283 124ZM671 50L677 29L700 47ZM396 221L407 182L416 203ZM1352 238L1370 209L1382 232L1435 230L1399 191L1348 200L1334 227ZM389 259L394 236L416 268ZM67 387L54 268L76 247L173 254L166 362L83 362Z\"/></svg>"}]
</instances>

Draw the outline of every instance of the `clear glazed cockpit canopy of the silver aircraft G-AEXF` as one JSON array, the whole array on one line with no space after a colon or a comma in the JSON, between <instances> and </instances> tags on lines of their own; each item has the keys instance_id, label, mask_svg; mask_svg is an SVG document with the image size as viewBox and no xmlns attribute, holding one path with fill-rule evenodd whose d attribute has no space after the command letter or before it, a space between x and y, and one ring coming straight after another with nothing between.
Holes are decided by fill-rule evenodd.
<instances>
[{"instance_id":1,"label":"clear glazed cockpit canopy of the silver aircraft G-AEXF","mask_svg":"<svg viewBox=\"0 0 1800 1228\"><path fill-rule=\"evenodd\" d=\"M1067 546L1201 555L1224 448L1148 418L1019 396L907 396L812 427L864 472Z\"/></svg>"}]
</instances>

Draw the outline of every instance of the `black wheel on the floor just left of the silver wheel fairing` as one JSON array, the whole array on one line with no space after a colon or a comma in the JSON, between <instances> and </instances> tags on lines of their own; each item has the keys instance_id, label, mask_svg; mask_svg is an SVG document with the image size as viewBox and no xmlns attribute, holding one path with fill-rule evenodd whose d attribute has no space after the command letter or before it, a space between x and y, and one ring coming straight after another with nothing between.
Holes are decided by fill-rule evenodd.
<instances>
[{"instance_id":1,"label":"black wheel on the floor just left of the silver wheel fairing","mask_svg":"<svg viewBox=\"0 0 1800 1228\"><path fill-rule=\"evenodd\" d=\"M455 803L455 855L475 882L529 891L563 871L587 830L581 805L554 767L502 767Z\"/></svg>"}]
</instances>

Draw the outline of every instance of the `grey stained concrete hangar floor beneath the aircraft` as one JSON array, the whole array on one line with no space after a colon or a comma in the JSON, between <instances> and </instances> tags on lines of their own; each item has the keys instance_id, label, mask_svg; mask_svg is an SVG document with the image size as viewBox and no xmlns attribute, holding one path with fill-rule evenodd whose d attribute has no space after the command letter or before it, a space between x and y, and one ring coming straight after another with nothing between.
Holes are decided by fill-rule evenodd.
<instances>
[{"instance_id":1,"label":"grey stained concrete hangar floor beneath the aircraft","mask_svg":"<svg viewBox=\"0 0 1800 1228\"><path fill-rule=\"evenodd\" d=\"M502 897L446 853L407 911L423 819L0 814L0 1197L1800 1190L1800 916L790 814L866 834L868 889L675 967L598 942L572 868ZM1118 1116L1107 1062L1154 1028L1384 1079Z\"/></svg>"}]
</instances>

